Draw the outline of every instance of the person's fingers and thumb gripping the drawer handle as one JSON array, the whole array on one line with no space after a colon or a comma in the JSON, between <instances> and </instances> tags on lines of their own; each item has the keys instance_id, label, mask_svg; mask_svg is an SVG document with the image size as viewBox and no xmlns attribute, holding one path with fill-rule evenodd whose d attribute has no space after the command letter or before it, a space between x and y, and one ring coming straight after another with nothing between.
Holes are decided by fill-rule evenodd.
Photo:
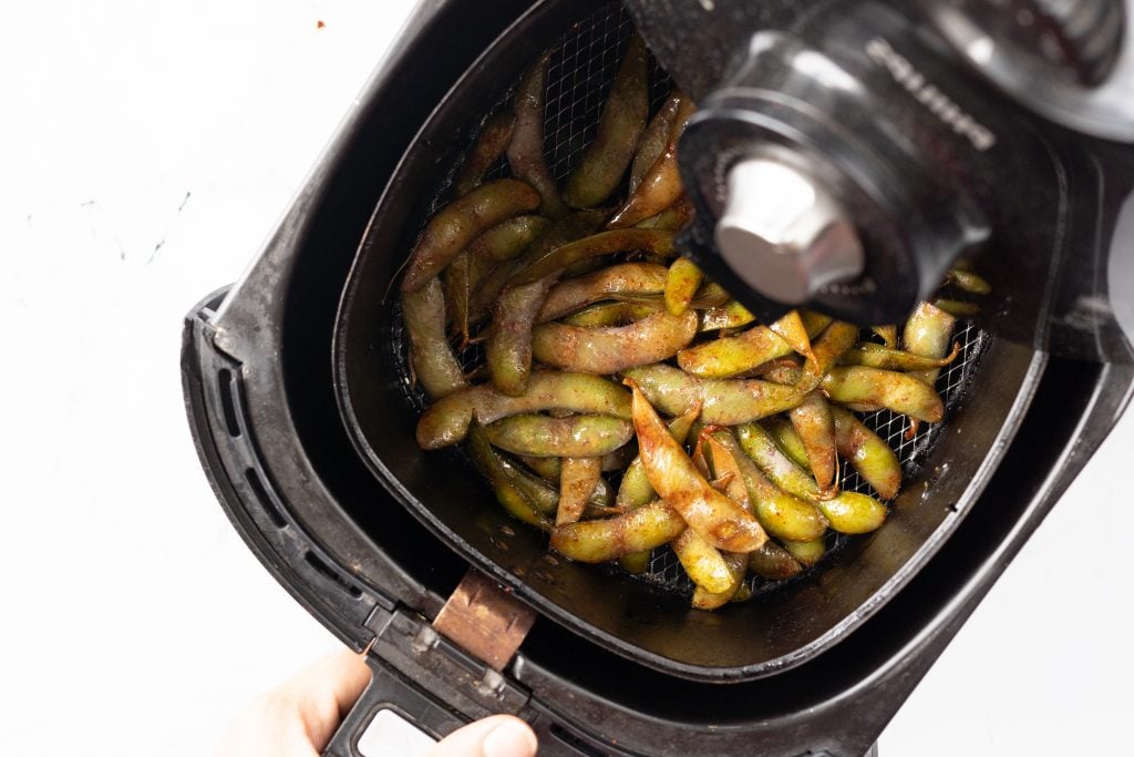
<instances>
[{"instance_id":1,"label":"person's fingers and thumb gripping the drawer handle","mask_svg":"<svg viewBox=\"0 0 1134 757\"><path fill-rule=\"evenodd\" d=\"M349 649L336 651L260 697L229 726L217 757L319 757L370 682ZM454 731L429 757L534 757L535 733L513 715Z\"/></svg>"}]
</instances>

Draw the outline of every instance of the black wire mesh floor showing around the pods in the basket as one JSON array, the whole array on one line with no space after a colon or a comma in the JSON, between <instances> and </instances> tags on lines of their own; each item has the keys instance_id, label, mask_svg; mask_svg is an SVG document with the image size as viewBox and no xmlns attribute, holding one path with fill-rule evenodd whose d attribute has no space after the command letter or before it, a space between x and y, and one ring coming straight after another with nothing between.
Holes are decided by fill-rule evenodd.
<instances>
[{"instance_id":1,"label":"black wire mesh floor showing around the pods in the basket","mask_svg":"<svg viewBox=\"0 0 1134 757\"><path fill-rule=\"evenodd\" d=\"M574 24L552 49L548 64L544 158L557 180L561 182L568 176L583 150L594 138L607 91L610 89L633 32L634 27L629 15L621 7L621 3L610 2ZM517 75L517 82L518 78ZM650 83L651 112L657 111L671 89L672 82L666 72L655 65ZM507 107L508 101L505 99L483 116L486 118L492 112ZM469 145L475 140L482 124L483 120L477 120L469 125ZM452 176L458 168L459 160L455 162L449 175ZM502 159L488 174L490 178L508 175L507 161ZM447 201L448 188L448 186L438 187L435 196L432 197L432 209ZM396 313L396 321L400 322L400 314ZM428 405L426 398L415 390L413 382L408 380L409 351L404 329L396 327L392 337L396 351L400 356L399 370L406 371L406 380L399 381L407 389L406 399L416 410L424 410ZM987 346L985 334L968 322L958 323L954 339L960 344L960 354L953 364L941 371L937 382L937 389L946 403L945 423L948 423L950 411L964 396L970 378ZM482 351L475 344L459 355L466 370L481 363L481 358ZM865 415L864 422L895 449L906 479L912 478L919 471L945 424L923 423L917 434L907 439L905 432L908 428L908 421L904 415L881 410ZM862 493L871 490L870 486L849 466L845 468L841 482L846 490ZM767 594L787 583L807 580L809 575L821 570L852 539L863 538L870 537L844 537L831 531L828 533L827 556L819 565L789 581L768 581L753 577L750 579L750 588L753 594ZM611 566L610 570L619 569ZM693 592L692 581L668 547L655 549L651 556L649 569L635 578L684 596Z\"/></svg>"}]
</instances>

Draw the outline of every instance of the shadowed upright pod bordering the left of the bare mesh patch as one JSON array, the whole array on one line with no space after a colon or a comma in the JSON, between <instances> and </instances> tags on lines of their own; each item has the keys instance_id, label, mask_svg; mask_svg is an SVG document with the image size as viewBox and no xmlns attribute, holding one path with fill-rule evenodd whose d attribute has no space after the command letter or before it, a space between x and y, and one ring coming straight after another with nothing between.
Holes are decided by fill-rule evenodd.
<instances>
[{"instance_id":1,"label":"shadowed upright pod bordering the left of the bare mesh patch","mask_svg":"<svg viewBox=\"0 0 1134 757\"><path fill-rule=\"evenodd\" d=\"M540 56L516 90L511 102L516 127L508 144L508 166L513 176L527 182L540 193L540 211L548 218L558 219L569 211L543 159L543 99L550 58L549 53Z\"/></svg>"}]
</instances>

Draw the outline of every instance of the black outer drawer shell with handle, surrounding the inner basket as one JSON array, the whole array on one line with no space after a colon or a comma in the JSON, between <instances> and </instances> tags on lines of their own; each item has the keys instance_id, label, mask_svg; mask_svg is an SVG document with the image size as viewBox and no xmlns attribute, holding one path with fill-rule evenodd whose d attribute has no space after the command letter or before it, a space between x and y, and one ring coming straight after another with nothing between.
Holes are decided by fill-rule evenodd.
<instances>
[{"instance_id":1,"label":"black outer drawer shell with handle, surrounding the inner basket","mask_svg":"<svg viewBox=\"0 0 1134 757\"><path fill-rule=\"evenodd\" d=\"M1021 390L1006 399L1016 440L982 471L979 499L905 589L792 670L691 681L545 619L502 673L476 661L430 626L467 562L359 457L336 406L331 338L358 241L417 129L493 40L530 32L550 5L417 9L252 268L186 319L183 381L202 463L265 567L340 639L369 650L374 680L328 754L357 754L382 708L434 735L516 713L548 755L863 754L1105 438L1134 371L1050 356L1030 334ZM447 54L424 52L438 49ZM1075 202L1117 208L1124 195L1098 194L1112 180ZM1100 244L1112 228L1105 220Z\"/></svg>"}]
</instances>

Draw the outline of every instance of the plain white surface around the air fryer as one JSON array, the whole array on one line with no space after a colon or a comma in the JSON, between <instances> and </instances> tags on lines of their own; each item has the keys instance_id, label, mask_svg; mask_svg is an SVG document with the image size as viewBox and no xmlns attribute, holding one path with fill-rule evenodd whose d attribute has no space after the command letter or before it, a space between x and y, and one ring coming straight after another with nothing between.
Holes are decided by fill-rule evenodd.
<instances>
[{"instance_id":1,"label":"plain white surface around the air fryer","mask_svg":"<svg viewBox=\"0 0 1134 757\"><path fill-rule=\"evenodd\" d=\"M251 260L409 6L6 7L0 755L206 754L242 703L336 645L205 482L180 320ZM1132 452L1134 414L886 757L1129 754Z\"/></svg>"}]
</instances>

